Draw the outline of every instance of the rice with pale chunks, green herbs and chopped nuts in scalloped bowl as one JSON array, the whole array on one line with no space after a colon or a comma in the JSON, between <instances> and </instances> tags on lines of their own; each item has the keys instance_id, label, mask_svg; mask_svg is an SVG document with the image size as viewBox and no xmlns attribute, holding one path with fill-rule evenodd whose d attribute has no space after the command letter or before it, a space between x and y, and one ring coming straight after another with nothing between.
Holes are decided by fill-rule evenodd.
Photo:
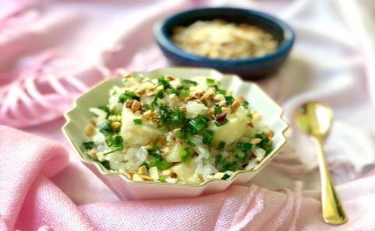
<instances>
[{"instance_id":1,"label":"rice with pale chunks, green herbs and chopped nuts in scalloped bowl","mask_svg":"<svg viewBox=\"0 0 375 231\"><path fill-rule=\"evenodd\" d=\"M252 102L209 76L123 78L92 107L87 156L128 179L199 185L251 170L272 151L273 131Z\"/></svg>"}]
</instances>

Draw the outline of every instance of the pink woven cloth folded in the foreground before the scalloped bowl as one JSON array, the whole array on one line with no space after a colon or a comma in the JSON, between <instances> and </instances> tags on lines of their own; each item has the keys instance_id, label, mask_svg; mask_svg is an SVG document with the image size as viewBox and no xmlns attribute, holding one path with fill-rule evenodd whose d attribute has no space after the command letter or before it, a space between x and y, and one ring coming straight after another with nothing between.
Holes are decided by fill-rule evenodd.
<instances>
[{"instance_id":1,"label":"pink woven cloth folded in the foreground before the scalloped bowl","mask_svg":"<svg viewBox=\"0 0 375 231\"><path fill-rule=\"evenodd\" d=\"M338 187L350 215L348 223L342 226L323 223L320 202L314 194L303 197L301 183L296 183L294 191L270 191L256 185L231 186L219 194L193 199L77 206L48 179L68 164L68 154L60 144L5 126L0 126L0 138L1 230L373 230L375 227L374 176Z\"/></svg>"}]
</instances>

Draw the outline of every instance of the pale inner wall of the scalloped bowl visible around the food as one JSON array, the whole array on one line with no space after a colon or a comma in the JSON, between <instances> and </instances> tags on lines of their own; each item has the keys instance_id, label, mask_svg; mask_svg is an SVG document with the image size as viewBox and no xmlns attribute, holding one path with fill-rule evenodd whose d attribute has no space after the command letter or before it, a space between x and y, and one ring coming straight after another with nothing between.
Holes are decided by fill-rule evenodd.
<instances>
[{"instance_id":1,"label":"pale inner wall of the scalloped bowl visible around the food","mask_svg":"<svg viewBox=\"0 0 375 231\"><path fill-rule=\"evenodd\" d=\"M284 131L287 129L288 125L281 119L281 115L283 113L282 108L280 108L275 102L273 102L273 100L269 98L267 94L264 93L256 84L243 82L236 75L224 75L214 69L207 68L162 68L149 72L134 73L135 76L148 77L152 79L158 78L158 76L165 74L175 75L182 79L190 79L194 76L210 76L210 78L220 81L222 87L233 89L233 95L243 95L243 97L245 97L250 102L250 108L257 110L264 117L264 119L267 120L269 127L275 134L272 139L273 150L258 164L258 166L256 166L252 170L236 171L235 174L233 174L229 178L229 180L234 180L234 178L241 172L260 170L274 157L274 155L276 155L279 149L286 143ZM89 108L98 107L105 104L108 100L108 90L114 85L121 86L121 78L105 80L104 82L98 84L96 87L93 87L91 90L79 97L75 102L76 105L74 105L74 108L65 114L67 123L63 127L63 131L67 139L77 150L81 160L85 161L86 163L96 165L102 174L115 173L109 172L102 164L91 160L88 155L85 154L85 149L82 143L88 141L88 139L84 133L84 126L88 123L93 115L89 111ZM203 182L202 184L207 183L208 181Z\"/></svg>"}]
</instances>

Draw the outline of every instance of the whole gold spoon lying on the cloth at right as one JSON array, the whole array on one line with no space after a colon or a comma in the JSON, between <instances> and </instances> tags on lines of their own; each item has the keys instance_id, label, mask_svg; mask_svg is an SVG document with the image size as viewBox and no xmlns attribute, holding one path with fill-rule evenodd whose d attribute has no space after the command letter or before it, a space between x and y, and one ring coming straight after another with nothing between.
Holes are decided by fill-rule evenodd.
<instances>
[{"instance_id":1,"label":"whole gold spoon lying on the cloth at right","mask_svg":"<svg viewBox=\"0 0 375 231\"><path fill-rule=\"evenodd\" d=\"M334 190L323 145L332 124L330 107L319 102L308 102L295 113L295 123L314 141L322 185L322 213L328 224L343 224L347 217L339 197Z\"/></svg>"}]
</instances>

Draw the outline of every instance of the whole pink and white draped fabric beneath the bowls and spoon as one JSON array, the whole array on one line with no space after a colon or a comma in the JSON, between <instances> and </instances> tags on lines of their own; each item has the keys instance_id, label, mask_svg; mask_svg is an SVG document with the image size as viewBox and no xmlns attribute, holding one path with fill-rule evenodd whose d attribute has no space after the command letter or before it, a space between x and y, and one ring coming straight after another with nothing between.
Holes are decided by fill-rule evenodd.
<instances>
[{"instance_id":1,"label":"whole pink and white draped fabric beneath the bowls and spoon","mask_svg":"<svg viewBox=\"0 0 375 231\"><path fill-rule=\"evenodd\" d=\"M0 124L31 133L0 128L0 230L375 227L375 123L364 123L375 116L372 1L2 0L0 5ZM61 133L61 115L104 76L168 65L153 40L154 23L199 5L265 11L295 30L288 62L274 78L258 82L286 112L288 145L250 187L186 200L118 201L77 159ZM335 113L325 149L349 215L342 226L322 222L315 152L292 123L296 106L311 99L329 103ZM60 142L66 151L35 134Z\"/></svg>"}]
</instances>

